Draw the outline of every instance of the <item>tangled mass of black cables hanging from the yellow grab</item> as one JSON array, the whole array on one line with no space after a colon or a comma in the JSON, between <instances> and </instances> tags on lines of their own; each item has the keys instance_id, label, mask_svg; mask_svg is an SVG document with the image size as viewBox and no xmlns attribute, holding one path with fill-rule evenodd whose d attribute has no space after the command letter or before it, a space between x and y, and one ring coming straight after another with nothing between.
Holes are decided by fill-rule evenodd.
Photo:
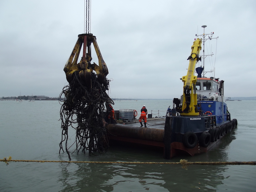
<instances>
[{"instance_id":1,"label":"tangled mass of black cables hanging from the yellow grab","mask_svg":"<svg viewBox=\"0 0 256 192\"><path fill-rule=\"evenodd\" d=\"M68 127L76 130L77 153L81 148L84 153L88 150L89 154L104 153L108 148L104 111L108 112L109 104L114 104L114 102L106 93L109 80L105 78L103 81L100 83L96 74L91 72L91 86L88 87L88 84L80 79L79 71L75 71L72 81L63 88L60 94L60 97L63 94L65 96L60 109L62 128L60 151L65 152L63 149L65 143L69 160L71 158L68 152Z\"/></svg>"}]
</instances>

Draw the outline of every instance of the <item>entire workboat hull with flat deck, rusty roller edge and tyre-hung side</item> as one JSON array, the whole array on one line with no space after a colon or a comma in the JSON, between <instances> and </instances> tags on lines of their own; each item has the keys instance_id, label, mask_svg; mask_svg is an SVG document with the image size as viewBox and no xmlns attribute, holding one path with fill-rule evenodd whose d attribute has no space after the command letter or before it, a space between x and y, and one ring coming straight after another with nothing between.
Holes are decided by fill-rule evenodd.
<instances>
[{"instance_id":1,"label":"entire workboat hull with flat deck, rusty roller edge and tyre-hung side","mask_svg":"<svg viewBox=\"0 0 256 192\"><path fill-rule=\"evenodd\" d=\"M216 116L166 116L148 119L148 127L139 122L108 124L108 139L127 146L150 146L162 150L165 159L180 154L194 156L212 148L237 125L236 119L216 125ZM111 142L116 141L116 142Z\"/></svg>"}]
</instances>

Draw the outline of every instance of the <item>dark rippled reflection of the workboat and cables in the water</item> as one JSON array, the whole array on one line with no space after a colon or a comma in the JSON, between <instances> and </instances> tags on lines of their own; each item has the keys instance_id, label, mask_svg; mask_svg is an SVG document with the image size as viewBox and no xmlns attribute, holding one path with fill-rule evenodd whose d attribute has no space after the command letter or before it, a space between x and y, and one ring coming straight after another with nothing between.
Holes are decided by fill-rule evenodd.
<instances>
[{"instance_id":1,"label":"dark rippled reflection of the workboat and cables in the water","mask_svg":"<svg viewBox=\"0 0 256 192\"><path fill-rule=\"evenodd\" d=\"M207 153L175 157L170 162L185 158L188 161L226 161L227 148L236 139L235 130L227 134ZM73 155L77 161L149 161L161 162L162 153L147 149L110 148L101 156ZM61 164L61 191L216 191L223 184L228 166L167 164Z\"/></svg>"}]
</instances>

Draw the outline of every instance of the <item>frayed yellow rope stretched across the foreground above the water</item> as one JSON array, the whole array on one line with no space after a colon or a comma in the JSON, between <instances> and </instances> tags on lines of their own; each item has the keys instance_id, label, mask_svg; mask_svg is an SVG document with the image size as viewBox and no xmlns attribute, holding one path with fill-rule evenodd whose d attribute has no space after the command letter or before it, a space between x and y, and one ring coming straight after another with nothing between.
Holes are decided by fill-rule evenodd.
<instances>
[{"instance_id":1,"label":"frayed yellow rope stretched across the foreground above the water","mask_svg":"<svg viewBox=\"0 0 256 192\"><path fill-rule=\"evenodd\" d=\"M38 163L98 163L98 164L181 164L183 169L188 169L188 165L256 165L256 161L231 161L231 162L188 162L186 159L180 159L180 162L127 162L127 161L40 161L40 160L12 160L12 157L0 159L8 165L10 161L14 162L38 162Z\"/></svg>"}]
</instances>

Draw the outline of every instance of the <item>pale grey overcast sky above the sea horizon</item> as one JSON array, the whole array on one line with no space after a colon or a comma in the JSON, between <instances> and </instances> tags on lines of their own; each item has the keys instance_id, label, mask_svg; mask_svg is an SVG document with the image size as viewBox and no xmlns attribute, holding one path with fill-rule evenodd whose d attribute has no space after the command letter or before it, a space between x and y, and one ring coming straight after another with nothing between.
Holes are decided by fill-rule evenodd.
<instances>
[{"instance_id":1,"label":"pale grey overcast sky above the sea horizon","mask_svg":"<svg viewBox=\"0 0 256 192\"><path fill-rule=\"evenodd\" d=\"M111 98L179 98L202 25L219 36L216 53L216 40L205 48L214 53L205 69L215 69L206 76L225 81L226 97L256 96L256 1L90 2L90 33L108 66ZM83 33L84 0L1 0L0 97L58 97L68 84L63 68Z\"/></svg>"}]
</instances>

